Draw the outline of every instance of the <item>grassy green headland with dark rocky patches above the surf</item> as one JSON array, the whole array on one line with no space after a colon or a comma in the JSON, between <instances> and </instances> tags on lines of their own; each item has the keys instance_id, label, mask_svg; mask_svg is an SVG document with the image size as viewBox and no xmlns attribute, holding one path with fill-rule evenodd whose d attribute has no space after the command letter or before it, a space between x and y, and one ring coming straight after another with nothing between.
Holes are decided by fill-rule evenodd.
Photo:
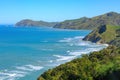
<instances>
[{"instance_id":1,"label":"grassy green headland with dark rocky patches above the surf","mask_svg":"<svg viewBox=\"0 0 120 80\"><path fill-rule=\"evenodd\" d=\"M94 43L107 43L120 47L120 26L100 26L88 34L83 40Z\"/></svg>"}]
</instances>

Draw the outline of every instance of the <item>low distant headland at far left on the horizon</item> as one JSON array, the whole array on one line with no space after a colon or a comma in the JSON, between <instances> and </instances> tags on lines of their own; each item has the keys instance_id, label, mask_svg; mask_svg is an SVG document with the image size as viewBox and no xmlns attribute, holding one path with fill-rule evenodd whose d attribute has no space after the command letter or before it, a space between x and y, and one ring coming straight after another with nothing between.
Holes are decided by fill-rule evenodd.
<instances>
[{"instance_id":1,"label":"low distant headland at far left on the horizon","mask_svg":"<svg viewBox=\"0 0 120 80\"><path fill-rule=\"evenodd\" d=\"M15 26L48 26L53 27L57 22L45 22L45 21L33 21L29 19L21 20L15 24Z\"/></svg>"}]
</instances>

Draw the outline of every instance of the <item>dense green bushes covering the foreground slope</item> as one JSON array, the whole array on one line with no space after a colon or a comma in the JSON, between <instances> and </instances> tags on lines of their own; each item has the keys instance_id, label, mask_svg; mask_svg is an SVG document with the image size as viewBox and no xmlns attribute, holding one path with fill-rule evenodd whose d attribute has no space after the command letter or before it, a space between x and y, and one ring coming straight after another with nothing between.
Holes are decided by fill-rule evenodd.
<instances>
[{"instance_id":1,"label":"dense green bushes covering the foreground slope","mask_svg":"<svg viewBox=\"0 0 120 80\"><path fill-rule=\"evenodd\" d=\"M38 80L120 80L120 48L110 46L44 72Z\"/></svg>"}]
</instances>

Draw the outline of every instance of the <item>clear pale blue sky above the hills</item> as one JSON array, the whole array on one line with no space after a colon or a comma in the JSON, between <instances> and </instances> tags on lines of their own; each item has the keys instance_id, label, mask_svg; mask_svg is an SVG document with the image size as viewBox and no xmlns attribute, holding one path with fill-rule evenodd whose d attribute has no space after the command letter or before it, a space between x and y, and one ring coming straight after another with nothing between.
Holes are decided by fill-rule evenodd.
<instances>
[{"instance_id":1,"label":"clear pale blue sky above the hills","mask_svg":"<svg viewBox=\"0 0 120 80\"><path fill-rule=\"evenodd\" d=\"M22 19L60 22L111 11L120 13L120 0L0 0L0 24Z\"/></svg>"}]
</instances>

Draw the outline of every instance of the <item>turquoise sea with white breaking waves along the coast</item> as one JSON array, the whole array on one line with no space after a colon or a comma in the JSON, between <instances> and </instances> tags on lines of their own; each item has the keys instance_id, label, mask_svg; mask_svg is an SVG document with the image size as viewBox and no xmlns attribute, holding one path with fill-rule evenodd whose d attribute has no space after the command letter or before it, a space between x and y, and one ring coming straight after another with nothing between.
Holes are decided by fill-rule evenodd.
<instances>
[{"instance_id":1,"label":"turquoise sea with white breaking waves along the coast","mask_svg":"<svg viewBox=\"0 0 120 80\"><path fill-rule=\"evenodd\" d=\"M106 47L82 41L90 32L0 26L0 80L36 80L49 68Z\"/></svg>"}]
</instances>

